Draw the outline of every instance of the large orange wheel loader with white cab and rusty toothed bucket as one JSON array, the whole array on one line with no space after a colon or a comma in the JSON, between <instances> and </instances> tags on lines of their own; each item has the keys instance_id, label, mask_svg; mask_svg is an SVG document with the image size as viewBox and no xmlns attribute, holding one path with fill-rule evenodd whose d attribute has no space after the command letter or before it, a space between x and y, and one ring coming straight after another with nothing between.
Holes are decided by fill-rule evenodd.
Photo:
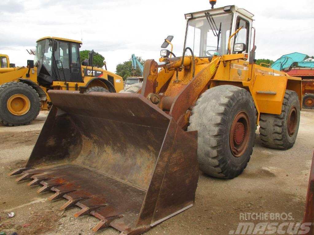
<instances>
[{"instance_id":1,"label":"large orange wheel loader with white cab and rusty toothed bucket","mask_svg":"<svg viewBox=\"0 0 314 235\"><path fill-rule=\"evenodd\" d=\"M291 148L301 80L254 64L252 17L236 6L185 14L182 56L162 50L159 62L146 60L134 89L48 91L38 141L10 175L67 199L61 209L80 207L77 217L99 218L94 231L137 235L193 206L199 168L240 175L257 125L265 146Z\"/></svg>"}]
</instances>

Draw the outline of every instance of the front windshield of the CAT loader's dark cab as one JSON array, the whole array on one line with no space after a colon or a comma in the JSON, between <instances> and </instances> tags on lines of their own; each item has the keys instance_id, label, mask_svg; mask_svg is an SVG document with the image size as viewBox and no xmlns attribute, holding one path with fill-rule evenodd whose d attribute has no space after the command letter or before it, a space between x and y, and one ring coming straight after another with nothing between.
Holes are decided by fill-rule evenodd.
<instances>
[{"instance_id":1,"label":"front windshield of the CAT loader's dark cab","mask_svg":"<svg viewBox=\"0 0 314 235\"><path fill-rule=\"evenodd\" d=\"M51 71L51 46L49 46L49 39L44 39L36 44L35 52L35 66L44 65L48 72Z\"/></svg>"}]
</instances>

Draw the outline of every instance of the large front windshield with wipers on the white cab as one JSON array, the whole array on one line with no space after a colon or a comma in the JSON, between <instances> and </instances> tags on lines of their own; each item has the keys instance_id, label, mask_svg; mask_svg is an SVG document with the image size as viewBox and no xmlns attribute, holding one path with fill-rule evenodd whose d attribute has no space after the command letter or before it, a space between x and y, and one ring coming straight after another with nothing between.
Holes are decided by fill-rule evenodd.
<instances>
[{"instance_id":1,"label":"large front windshield with wipers on the white cab","mask_svg":"<svg viewBox=\"0 0 314 235\"><path fill-rule=\"evenodd\" d=\"M227 54L232 13L216 14L188 20L185 47L190 47L195 56ZM218 49L217 49L218 47Z\"/></svg>"}]
</instances>

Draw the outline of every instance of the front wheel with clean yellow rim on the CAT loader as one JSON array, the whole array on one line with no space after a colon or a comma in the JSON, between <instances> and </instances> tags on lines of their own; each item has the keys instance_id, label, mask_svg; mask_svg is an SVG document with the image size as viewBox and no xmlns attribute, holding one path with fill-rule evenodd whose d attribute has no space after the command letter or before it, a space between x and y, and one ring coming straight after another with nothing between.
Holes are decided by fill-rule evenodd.
<instances>
[{"instance_id":1,"label":"front wheel with clean yellow rim on the CAT loader","mask_svg":"<svg viewBox=\"0 0 314 235\"><path fill-rule=\"evenodd\" d=\"M41 100L33 87L22 82L0 86L0 121L6 126L31 123L39 114Z\"/></svg>"}]
</instances>

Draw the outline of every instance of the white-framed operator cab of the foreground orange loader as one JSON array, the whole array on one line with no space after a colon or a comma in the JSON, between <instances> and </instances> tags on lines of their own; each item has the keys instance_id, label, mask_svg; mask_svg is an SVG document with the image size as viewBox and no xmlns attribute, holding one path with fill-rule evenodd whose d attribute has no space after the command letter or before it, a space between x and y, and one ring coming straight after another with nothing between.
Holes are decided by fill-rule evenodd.
<instances>
[{"instance_id":1,"label":"white-framed operator cab of the foreground orange loader","mask_svg":"<svg viewBox=\"0 0 314 235\"><path fill-rule=\"evenodd\" d=\"M184 48L190 47L197 57L248 53L254 15L243 8L226 6L185 14L187 29ZM228 39L237 29L242 29ZM254 29L254 28L253 28Z\"/></svg>"}]
</instances>

